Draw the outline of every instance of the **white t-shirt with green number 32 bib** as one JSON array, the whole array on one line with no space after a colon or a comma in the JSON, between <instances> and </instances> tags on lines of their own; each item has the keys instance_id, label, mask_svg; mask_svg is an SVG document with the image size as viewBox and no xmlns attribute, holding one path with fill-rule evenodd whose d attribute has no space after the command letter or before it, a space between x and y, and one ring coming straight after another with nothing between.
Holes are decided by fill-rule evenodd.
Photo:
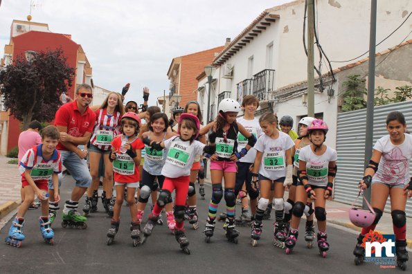
<instances>
[{"instance_id":1,"label":"white t-shirt with green number 32 bib","mask_svg":"<svg viewBox=\"0 0 412 274\"><path fill-rule=\"evenodd\" d=\"M295 145L289 135L279 131L279 137L272 139L263 134L253 147L263 152L259 173L271 180L286 176L286 150Z\"/></svg>"}]
</instances>

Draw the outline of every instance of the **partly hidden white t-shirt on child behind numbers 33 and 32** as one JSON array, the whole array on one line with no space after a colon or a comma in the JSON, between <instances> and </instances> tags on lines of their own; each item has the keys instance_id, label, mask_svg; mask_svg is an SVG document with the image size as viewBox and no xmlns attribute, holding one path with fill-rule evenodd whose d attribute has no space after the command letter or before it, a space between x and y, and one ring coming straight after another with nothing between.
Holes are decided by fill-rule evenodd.
<instances>
[{"instance_id":1,"label":"partly hidden white t-shirt on child behind numbers 33 and 32","mask_svg":"<svg viewBox=\"0 0 412 274\"><path fill-rule=\"evenodd\" d=\"M258 139L260 136L262 136L263 131L262 128L259 125L259 119L254 118L253 120L246 120L243 117L242 118L236 118L236 121L240 123L247 131L249 131L251 134L253 134L256 139ZM246 147L247 145L247 138L243 136L243 134L238 132L238 152L242 150L242 148ZM256 158L256 150L255 149L249 149L249 152L244 156L243 158L240 158L240 162L242 163L254 163Z\"/></svg>"}]
</instances>

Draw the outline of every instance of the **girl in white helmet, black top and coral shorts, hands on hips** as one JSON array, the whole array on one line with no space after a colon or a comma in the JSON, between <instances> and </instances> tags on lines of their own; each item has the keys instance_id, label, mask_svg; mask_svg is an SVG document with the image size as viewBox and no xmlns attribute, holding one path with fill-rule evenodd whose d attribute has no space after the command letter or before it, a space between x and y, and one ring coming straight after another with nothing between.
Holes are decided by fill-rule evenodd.
<instances>
[{"instance_id":1,"label":"girl in white helmet, black top and coral shorts, hands on hips","mask_svg":"<svg viewBox=\"0 0 412 274\"><path fill-rule=\"evenodd\" d=\"M205 241L208 243L213 236L217 206L224 197L226 201L226 238L238 243L239 232L235 229L235 179L238 171L236 162L244 157L249 149L256 143L253 136L240 123L236 122L236 116L240 111L240 104L233 99L224 99L219 104L219 114L216 121L209 123L201 134L212 130L209 134L209 142L216 144L216 152L211 156L212 199L209 203L208 219L206 221ZM238 133L247 138L247 145L238 152ZM224 178L224 192L222 179Z\"/></svg>"}]
</instances>

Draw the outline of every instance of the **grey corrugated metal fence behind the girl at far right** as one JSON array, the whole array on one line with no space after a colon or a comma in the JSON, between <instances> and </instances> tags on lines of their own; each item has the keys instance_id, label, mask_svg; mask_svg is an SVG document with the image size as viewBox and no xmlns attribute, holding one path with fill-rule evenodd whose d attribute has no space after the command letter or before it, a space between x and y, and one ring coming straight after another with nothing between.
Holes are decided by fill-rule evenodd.
<instances>
[{"instance_id":1,"label":"grey corrugated metal fence behind the girl at far right","mask_svg":"<svg viewBox=\"0 0 412 274\"><path fill-rule=\"evenodd\" d=\"M373 143L388 134L386 116L391 111L404 113L406 123L412 123L412 101L386 104L375 107L373 118ZM339 113L337 116L338 172L334 183L334 199L351 204L359 189L357 184L364 176L364 156L366 138L366 109ZM411 168L411 164L409 164ZM412 170L412 168L411 168ZM411 172L412 175L412 172ZM388 199L390 201L390 199ZM385 211L391 211L391 203L386 203ZM357 205L362 201L358 199ZM406 203L406 215L412 217L412 201Z\"/></svg>"}]
</instances>

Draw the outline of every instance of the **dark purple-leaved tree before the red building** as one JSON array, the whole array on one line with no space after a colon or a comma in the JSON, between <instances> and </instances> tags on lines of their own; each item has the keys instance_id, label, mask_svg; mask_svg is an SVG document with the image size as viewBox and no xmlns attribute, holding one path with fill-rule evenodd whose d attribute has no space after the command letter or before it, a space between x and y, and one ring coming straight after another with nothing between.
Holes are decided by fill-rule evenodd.
<instances>
[{"instance_id":1,"label":"dark purple-leaved tree before the red building","mask_svg":"<svg viewBox=\"0 0 412 274\"><path fill-rule=\"evenodd\" d=\"M68 66L62 49L32 52L32 58L18 56L0 71L0 92L4 106L23 122L50 122L60 107L59 96L72 86L75 69Z\"/></svg>"}]
</instances>

